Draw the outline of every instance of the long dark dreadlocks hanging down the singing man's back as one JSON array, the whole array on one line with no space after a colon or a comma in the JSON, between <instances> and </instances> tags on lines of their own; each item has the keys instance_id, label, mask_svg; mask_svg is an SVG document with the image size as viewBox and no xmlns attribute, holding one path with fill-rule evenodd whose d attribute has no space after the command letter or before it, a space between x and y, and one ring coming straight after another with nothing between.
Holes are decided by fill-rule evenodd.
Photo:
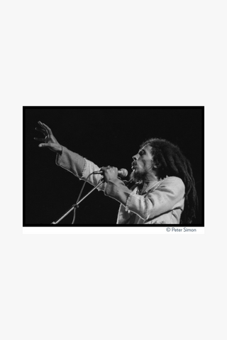
<instances>
[{"instance_id":1,"label":"long dark dreadlocks hanging down the singing man's back","mask_svg":"<svg viewBox=\"0 0 227 340\"><path fill-rule=\"evenodd\" d=\"M182 154L177 145L161 138L150 138L143 142L140 148L150 145L152 147L153 160L158 169L158 176L177 176L184 182L184 210L181 215L181 224L191 224L196 217L198 209L198 197L192 166L189 160Z\"/></svg>"}]
</instances>

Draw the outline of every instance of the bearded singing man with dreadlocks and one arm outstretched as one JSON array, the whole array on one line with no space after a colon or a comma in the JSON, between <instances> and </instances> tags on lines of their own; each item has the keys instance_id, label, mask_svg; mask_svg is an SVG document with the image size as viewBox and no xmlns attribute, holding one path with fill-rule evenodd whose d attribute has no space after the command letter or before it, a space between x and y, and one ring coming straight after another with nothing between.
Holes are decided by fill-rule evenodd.
<instances>
[{"instance_id":1,"label":"bearded singing man with dreadlocks and one arm outstretched","mask_svg":"<svg viewBox=\"0 0 227 340\"><path fill-rule=\"evenodd\" d=\"M85 180L99 166L60 145L51 129L38 122L45 138L35 138L39 147L57 153L56 164ZM198 198L192 167L179 147L167 140L151 138L133 156L131 179L124 183L114 166L102 167L102 174L89 176L88 182L121 203L117 224L190 224L196 214Z\"/></svg>"}]
</instances>

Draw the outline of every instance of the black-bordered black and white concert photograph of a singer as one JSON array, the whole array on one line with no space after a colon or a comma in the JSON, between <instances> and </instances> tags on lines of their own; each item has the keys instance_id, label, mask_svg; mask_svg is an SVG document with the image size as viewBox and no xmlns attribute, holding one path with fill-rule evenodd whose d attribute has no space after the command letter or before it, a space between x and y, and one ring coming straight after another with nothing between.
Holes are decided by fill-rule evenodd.
<instances>
[{"instance_id":1,"label":"black-bordered black and white concert photograph of a singer","mask_svg":"<svg viewBox=\"0 0 227 340\"><path fill-rule=\"evenodd\" d=\"M23 226L204 226L203 107L24 107Z\"/></svg>"}]
</instances>

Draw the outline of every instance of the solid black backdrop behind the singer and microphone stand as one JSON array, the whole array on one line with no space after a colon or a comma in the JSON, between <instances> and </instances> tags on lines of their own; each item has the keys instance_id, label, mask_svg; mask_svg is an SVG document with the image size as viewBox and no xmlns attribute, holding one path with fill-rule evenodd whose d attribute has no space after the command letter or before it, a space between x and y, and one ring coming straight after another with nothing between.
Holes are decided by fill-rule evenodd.
<instances>
[{"instance_id":1,"label":"solid black backdrop behind the singer and microphone stand","mask_svg":"<svg viewBox=\"0 0 227 340\"><path fill-rule=\"evenodd\" d=\"M38 120L48 125L61 145L98 166L131 172L140 144L162 137L177 144L192 164L199 213L204 223L203 107L24 107L23 108L23 225L48 225L76 202L83 181L55 164L55 153L38 147ZM128 178L126 178L128 179ZM92 189L86 184L82 196ZM78 225L116 223L119 203L94 191L77 209ZM71 224L73 214L59 225Z\"/></svg>"}]
</instances>

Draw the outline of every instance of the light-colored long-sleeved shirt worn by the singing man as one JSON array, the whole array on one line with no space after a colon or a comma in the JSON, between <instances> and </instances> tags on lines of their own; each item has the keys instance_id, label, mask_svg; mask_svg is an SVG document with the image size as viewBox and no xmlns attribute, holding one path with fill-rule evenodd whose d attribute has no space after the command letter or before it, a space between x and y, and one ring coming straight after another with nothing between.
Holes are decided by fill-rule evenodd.
<instances>
[{"instance_id":1,"label":"light-colored long-sleeved shirt worn by the singing man","mask_svg":"<svg viewBox=\"0 0 227 340\"><path fill-rule=\"evenodd\" d=\"M57 155L56 164L82 180L100 170L99 166L66 147ZM92 175L88 183L96 186L101 179L101 174ZM121 203L116 222L120 225L179 224L184 209L184 183L175 176L149 183L143 195L139 194L136 183L128 188L118 178L102 183L97 189Z\"/></svg>"}]
</instances>

